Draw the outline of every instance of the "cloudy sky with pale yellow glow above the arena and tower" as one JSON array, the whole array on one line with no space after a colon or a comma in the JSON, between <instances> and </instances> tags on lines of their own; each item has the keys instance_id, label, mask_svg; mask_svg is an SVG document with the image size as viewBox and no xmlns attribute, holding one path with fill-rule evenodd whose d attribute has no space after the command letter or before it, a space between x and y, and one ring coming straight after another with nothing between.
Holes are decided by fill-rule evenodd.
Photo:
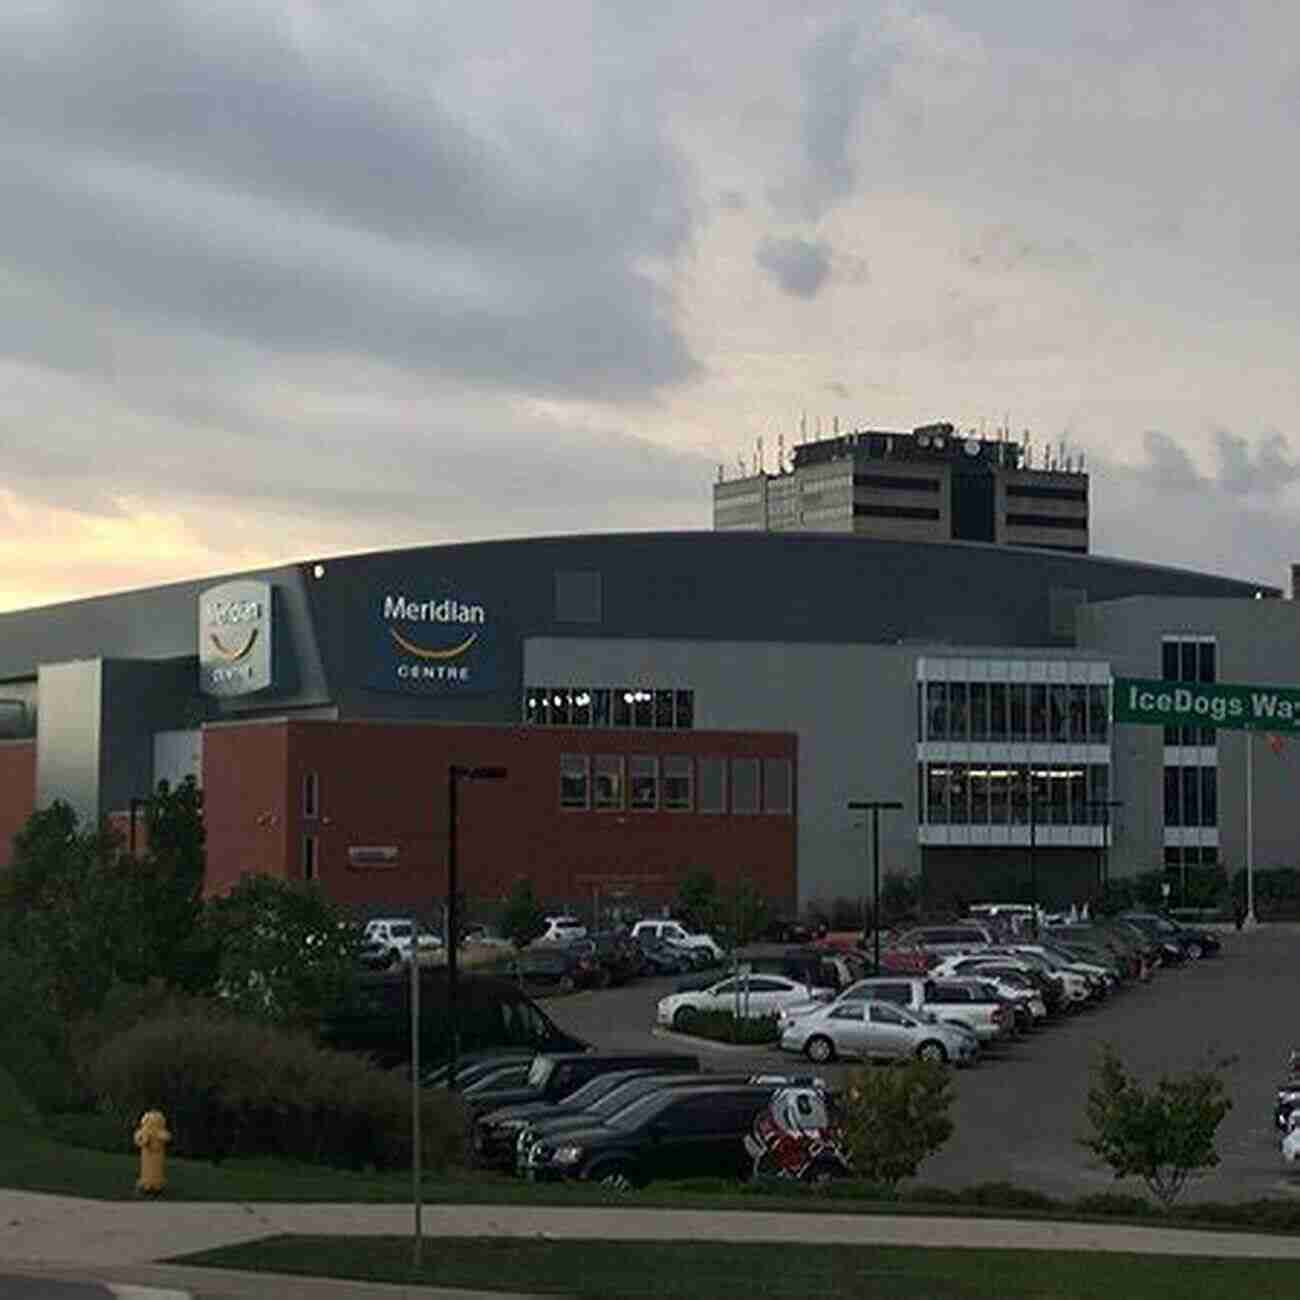
<instances>
[{"instance_id":1,"label":"cloudy sky with pale yellow glow above the arena and tower","mask_svg":"<svg viewBox=\"0 0 1300 1300\"><path fill-rule=\"evenodd\" d=\"M707 528L801 419L1280 585L1297 124L1265 0L5 0L0 608Z\"/></svg>"}]
</instances>

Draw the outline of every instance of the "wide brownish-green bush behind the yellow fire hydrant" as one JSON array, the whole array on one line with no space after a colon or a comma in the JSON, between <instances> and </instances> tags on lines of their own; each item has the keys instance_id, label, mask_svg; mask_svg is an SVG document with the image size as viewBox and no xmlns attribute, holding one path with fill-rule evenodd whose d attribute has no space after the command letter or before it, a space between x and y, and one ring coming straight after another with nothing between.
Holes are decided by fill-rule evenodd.
<instances>
[{"instance_id":1,"label":"wide brownish-green bush behind the yellow fire hydrant","mask_svg":"<svg viewBox=\"0 0 1300 1300\"><path fill-rule=\"evenodd\" d=\"M400 1074L270 1026L166 1014L105 1043L87 1078L124 1127L162 1110L176 1154L280 1156L343 1169L411 1162L411 1087ZM421 1131L430 1169L464 1150L464 1113L446 1097L425 1097Z\"/></svg>"}]
</instances>

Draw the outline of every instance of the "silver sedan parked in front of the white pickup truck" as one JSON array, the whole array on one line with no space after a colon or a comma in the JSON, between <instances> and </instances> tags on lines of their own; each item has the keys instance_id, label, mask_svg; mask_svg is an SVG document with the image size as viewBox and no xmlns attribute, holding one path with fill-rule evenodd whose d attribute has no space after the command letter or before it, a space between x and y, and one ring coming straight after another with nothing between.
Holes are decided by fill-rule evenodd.
<instances>
[{"instance_id":1,"label":"silver sedan parked in front of the white pickup truck","mask_svg":"<svg viewBox=\"0 0 1300 1300\"><path fill-rule=\"evenodd\" d=\"M790 1020L781 1048L802 1052L819 1065L838 1056L863 1061L950 1061L968 1065L979 1053L975 1036L953 1024L918 1015L893 1002L841 998Z\"/></svg>"}]
</instances>

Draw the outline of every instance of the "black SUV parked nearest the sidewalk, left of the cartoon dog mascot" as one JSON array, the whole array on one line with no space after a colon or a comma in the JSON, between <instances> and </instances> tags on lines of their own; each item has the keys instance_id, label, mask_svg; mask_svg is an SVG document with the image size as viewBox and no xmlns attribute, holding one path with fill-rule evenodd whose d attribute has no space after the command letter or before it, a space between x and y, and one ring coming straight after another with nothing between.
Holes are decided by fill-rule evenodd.
<instances>
[{"instance_id":1,"label":"black SUV parked nearest the sidewalk, left of the cartoon dog mascot","mask_svg":"<svg viewBox=\"0 0 1300 1300\"><path fill-rule=\"evenodd\" d=\"M603 1123L534 1144L528 1176L644 1187L656 1178L745 1178L745 1135L780 1087L701 1084L651 1092Z\"/></svg>"}]
</instances>

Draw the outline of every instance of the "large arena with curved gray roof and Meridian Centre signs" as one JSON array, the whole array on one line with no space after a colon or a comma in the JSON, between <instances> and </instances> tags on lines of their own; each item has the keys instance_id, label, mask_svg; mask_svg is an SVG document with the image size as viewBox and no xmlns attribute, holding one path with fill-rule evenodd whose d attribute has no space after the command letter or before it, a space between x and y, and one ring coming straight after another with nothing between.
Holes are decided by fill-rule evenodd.
<instances>
[{"instance_id":1,"label":"large arena with curved gray roof and Meridian Centre signs","mask_svg":"<svg viewBox=\"0 0 1300 1300\"><path fill-rule=\"evenodd\" d=\"M1117 725L1115 677L1288 682L1300 604L1071 550L806 532L428 546L0 616L0 857L32 809L204 786L209 888L662 902L712 870L781 909L884 871L1046 904L1247 858L1245 732ZM1300 861L1261 745L1256 863Z\"/></svg>"}]
</instances>

